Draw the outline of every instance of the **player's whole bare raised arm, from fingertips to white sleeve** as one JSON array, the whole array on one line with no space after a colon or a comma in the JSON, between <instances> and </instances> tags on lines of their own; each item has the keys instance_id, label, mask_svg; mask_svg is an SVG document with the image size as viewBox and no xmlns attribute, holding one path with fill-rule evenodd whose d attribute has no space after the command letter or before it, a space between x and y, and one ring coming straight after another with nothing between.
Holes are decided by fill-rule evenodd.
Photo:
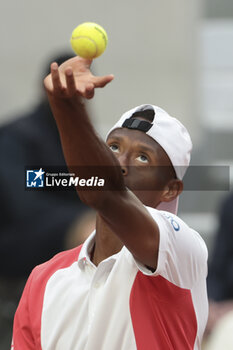
<instances>
[{"instance_id":1,"label":"player's whole bare raised arm, from fingertips to white sleeve","mask_svg":"<svg viewBox=\"0 0 233 350\"><path fill-rule=\"evenodd\" d=\"M90 72L91 61L72 58L59 68L51 65L45 78L49 102L60 132L68 167L108 167L112 191L80 191L83 202L98 211L110 229L141 263L157 266L159 229L143 204L126 190L119 162L107 145L97 136L82 98L92 98L95 88L104 87L113 76L96 77ZM79 174L76 173L77 176Z\"/></svg>"}]
</instances>

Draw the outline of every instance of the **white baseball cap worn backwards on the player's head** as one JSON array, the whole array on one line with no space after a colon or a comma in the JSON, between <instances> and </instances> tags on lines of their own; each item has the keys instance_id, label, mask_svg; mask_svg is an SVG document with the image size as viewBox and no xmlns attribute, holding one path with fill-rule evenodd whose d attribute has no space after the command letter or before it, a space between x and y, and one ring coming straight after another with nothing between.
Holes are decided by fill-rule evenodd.
<instances>
[{"instance_id":1,"label":"white baseball cap worn backwards on the player's head","mask_svg":"<svg viewBox=\"0 0 233 350\"><path fill-rule=\"evenodd\" d=\"M145 110L154 110L152 123L133 118L134 113ZM187 129L179 120L160 107L144 104L125 112L109 130L107 137L113 130L123 127L141 130L158 142L170 158L177 178L182 180L190 163L192 141ZM171 202L160 203L156 209L177 214L178 197Z\"/></svg>"}]
</instances>

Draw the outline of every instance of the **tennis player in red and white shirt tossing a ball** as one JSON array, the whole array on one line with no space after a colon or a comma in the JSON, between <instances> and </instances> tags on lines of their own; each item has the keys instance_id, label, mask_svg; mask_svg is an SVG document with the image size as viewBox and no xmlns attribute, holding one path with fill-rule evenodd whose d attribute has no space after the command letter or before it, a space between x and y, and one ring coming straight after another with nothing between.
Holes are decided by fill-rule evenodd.
<instances>
[{"instance_id":1,"label":"tennis player in red and white shirt tossing a ball","mask_svg":"<svg viewBox=\"0 0 233 350\"><path fill-rule=\"evenodd\" d=\"M77 187L97 212L96 230L32 271L12 349L201 349L207 249L176 216L190 136L147 104L123 114L102 141L82 99L113 76L96 77L90 65L80 57L52 63L45 87L69 169L89 178L94 165L108 190Z\"/></svg>"}]
</instances>

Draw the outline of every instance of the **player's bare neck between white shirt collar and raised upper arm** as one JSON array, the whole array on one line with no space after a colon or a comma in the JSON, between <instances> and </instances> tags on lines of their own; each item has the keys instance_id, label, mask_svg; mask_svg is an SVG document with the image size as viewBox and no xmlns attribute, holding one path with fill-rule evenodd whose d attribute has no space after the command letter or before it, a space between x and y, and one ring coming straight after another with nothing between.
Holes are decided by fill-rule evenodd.
<instances>
[{"instance_id":1,"label":"player's bare neck between white shirt collar and raised upper arm","mask_svg":"<svg viewBox=\"0 0 233 350\"><path fill-rule=\"evenodd\" d=\"M123 243L97 214L95 245L91 254L92 262L97 266L102 260L119 253Z\"/></svg>"}]
</instances>

